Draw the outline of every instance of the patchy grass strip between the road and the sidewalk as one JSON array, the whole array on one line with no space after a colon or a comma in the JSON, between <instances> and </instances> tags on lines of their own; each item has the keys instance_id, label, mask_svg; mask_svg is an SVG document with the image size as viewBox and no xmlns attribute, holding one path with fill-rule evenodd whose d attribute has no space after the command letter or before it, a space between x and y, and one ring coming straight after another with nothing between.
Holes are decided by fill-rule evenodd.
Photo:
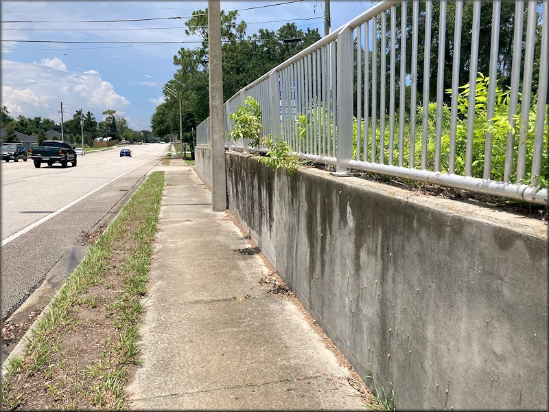
<instances>
[{"instance_id":1,"label":"patchy grass strip between the road and the sidewalk","mask_svg":"<svg viewBox=\"0 0 549 412\"><path fill-rule=\"evenodd\" d=\"M2 409L125 409L164 185L154 172L89 249L2 379Z\"/></svg>"}]
</instances>

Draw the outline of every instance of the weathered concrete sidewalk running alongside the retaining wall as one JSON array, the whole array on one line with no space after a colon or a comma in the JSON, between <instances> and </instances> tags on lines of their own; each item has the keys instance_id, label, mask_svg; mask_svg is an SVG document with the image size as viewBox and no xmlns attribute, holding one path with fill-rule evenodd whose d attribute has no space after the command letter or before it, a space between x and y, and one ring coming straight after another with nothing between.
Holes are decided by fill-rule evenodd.
<instances>
[{"instance_id":1,"label":"weathered concrete sidewalk running alongside the retaining wall","mask_svg":"<svg viewBox=\"0 0 549 412\"><path fill-rule=\"evenodd\" d=\"M165 189L130 408L364 410L303 314L259 284L268 268L211 210L194 168L156 170Z\"/></svg>"}]
</instances>

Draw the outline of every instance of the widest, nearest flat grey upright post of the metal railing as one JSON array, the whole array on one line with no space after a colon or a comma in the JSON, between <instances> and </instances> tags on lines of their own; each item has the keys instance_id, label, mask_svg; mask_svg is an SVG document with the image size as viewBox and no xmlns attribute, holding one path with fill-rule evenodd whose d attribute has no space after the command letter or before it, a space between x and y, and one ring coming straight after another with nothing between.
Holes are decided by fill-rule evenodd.
<instances>
[{"instance_id":1,"label":"widest, nearest flat grey upright post of the metal railing","mask_svg":"<svg viewBox=\"0 0 549 412\"><path fill-rule=\"evenodd\" d=\"M349 176L353 157L353 30L344 28L338 35L337 81L337 159L336 176Z\"/></svg>"}]
</instances>

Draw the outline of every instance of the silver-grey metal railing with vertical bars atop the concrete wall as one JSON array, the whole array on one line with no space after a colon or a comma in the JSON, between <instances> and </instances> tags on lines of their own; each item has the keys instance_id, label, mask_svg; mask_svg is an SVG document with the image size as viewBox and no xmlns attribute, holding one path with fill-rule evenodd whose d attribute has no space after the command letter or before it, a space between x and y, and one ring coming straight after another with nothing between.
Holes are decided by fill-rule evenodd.
<instances>
[{"instance_id":1,"label":"silver-grey metal railing with vertical bars atop the concrete wall","mask_svg":"<svg viewBox=\"0 0 549 412\"><path fill-rule=\"evenodd\" d=\"M462 24L467 3L472 3L472 27ZM265 135L283 139L302 159L336 165L336 174L364 170L548 205L549 0L515 3L508 88L493 81L502 76L501 4L491 2L490 81L478 74L477 66L480 13L487 3L452 2L454 38L449 42L447 1L441 0L434 14L431 0L386 0L244 87L225 103L225 114L252 96L261 105ZM432 25L433 15L439 17L438 27ZM422 62L420 23L425 27ZM471 47L466 50L461 40L468 30ZM401 33L410 33L411 41ZM436 58L432 45L438 48ZM449 105L444 95L445 54L453 59ZM459 84L461 56L469 58L468 89ZM540 62L537 84L534 61ZM419 65L422 93L417 90ZM430 82L436 85L434 102ZM227 119L226 130L232 126ZM199 146L209 144L208 127L206 119L197 128ZM227 146L248 150L246 141L227 139Z\"/></svg>"}]
</instances>

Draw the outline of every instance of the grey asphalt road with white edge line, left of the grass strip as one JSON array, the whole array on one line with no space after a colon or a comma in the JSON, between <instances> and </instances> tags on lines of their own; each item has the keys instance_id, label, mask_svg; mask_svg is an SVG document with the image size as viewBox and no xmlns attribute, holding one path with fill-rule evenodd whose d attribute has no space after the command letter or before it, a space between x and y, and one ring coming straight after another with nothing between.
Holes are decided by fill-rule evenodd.
<instances>
[{"instance_id":1,"label":"grey asphalt road with white edge line, left of the grass strip","mask_svg":"<svg viewBox=\"0 0 549 412\"><path fill-rule=\"evenodd\" d=\"M168 145L124 147L132 157L120 157L117 146L66 169L1 162L2 319L49 301L89 247L84 234L113 220Z\"/></svg>"}]
</instances>

